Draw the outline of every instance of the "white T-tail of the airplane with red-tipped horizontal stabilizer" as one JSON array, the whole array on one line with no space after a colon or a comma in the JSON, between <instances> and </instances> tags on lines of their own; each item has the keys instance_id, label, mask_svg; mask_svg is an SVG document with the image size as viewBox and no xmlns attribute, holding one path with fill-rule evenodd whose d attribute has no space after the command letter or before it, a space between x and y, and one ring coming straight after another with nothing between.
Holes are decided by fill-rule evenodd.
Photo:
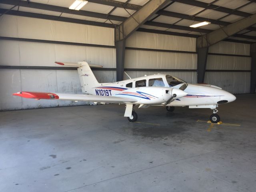
<instances>
[{"instance_id":1,"label":"white T-tail of the airplane with red-tipped horizontal stabilizer","mask_svg":"<svg viewBox=\"0 0 256 192\"><path fill-rule=\"evenodd\" d=\"M78 67L78 75L80 78L82 92L86 94L95 94L95 90L92 89L94 87L100 86L101 84L95 78L90 67L102 67L100 65L88 64L85 61L77 62L77 63L69 63L69 62L55 62L60 65L67 66L77 66Z\"/></svg>"}]
</instances>

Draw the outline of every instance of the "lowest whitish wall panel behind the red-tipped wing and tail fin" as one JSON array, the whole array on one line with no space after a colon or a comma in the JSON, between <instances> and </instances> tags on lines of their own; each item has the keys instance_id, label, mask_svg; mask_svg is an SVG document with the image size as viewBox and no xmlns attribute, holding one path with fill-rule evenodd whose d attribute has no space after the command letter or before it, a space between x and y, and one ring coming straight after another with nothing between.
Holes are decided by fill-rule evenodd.
<instances>
[{"instance_id":1,"label":"lowest whitish wall panel behind the red-tipped wing and tail fin","mask_svg":"<svg viewBox=\"0 0 256 192\"><path fill-rule=\"evenodd\" d=\"M114 71L94 71L99 82L116 80ZM76 70L0 70L0 110L17 110L54 106L73 106L89 104L63 100L34 100L13 93L26 90L38 92L81 93L80 80ZM10 83L9 83L10 82Z\"/></svg>"}]
</instances>

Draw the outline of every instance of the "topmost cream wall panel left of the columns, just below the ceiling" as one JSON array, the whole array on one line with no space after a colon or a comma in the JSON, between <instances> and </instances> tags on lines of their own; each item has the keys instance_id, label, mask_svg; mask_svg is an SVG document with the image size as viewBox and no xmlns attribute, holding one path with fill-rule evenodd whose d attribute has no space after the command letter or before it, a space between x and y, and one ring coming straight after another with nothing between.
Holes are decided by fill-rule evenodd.
<instances>
[{"instance_id":1,"label":"topmost cream wall panel left of the columns, just below the ceiling","mask_svg":"<svg viewBox=\"0 0 256 192\"><path fill-rule=\"evenodd\" d=\"M114 29L4 15L0 19L0 36L76 43L114 45Z\"/></svg>"}]
</instances>

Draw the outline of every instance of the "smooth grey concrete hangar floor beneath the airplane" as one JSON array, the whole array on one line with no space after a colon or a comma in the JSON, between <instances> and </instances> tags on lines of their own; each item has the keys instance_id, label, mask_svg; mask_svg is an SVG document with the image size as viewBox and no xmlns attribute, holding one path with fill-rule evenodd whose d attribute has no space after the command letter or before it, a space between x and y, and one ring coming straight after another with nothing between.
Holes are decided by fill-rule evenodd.
<instances>
[{"instance_id":1,"label":"smooth grey concrete hangar floor beneath the airplane","mask_svg":"<svg viewBox=\"0 0 256 192\"><path fill-rule=\"evenodd\" d=\"M256 95L210 109L124 105L0 112L1 192L256 191Z\"/></svg>"}]
</instances>

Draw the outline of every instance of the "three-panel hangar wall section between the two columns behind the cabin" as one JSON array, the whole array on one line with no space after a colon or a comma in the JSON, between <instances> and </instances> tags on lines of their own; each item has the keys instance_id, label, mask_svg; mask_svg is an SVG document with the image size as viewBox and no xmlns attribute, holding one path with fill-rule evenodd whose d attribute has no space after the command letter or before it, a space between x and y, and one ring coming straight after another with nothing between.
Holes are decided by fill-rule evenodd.
<instances>
[{"instance_id":1,"label":"three-panel hangar wall section between the two columns behind the cabin","mask_svg":"<svg viewBox=\"0 0 256 192\"><path fill-rule=\"evenodd\" d=\"M134 32L126 40L126 47L196 52L196 38ZM197 68L197 54L127 49L124 68L145 69L145 71L127 71L132 78L145 74L162 73L172 74L189 83L196 83L196 72L148 72L146 69L195 70ZM126 74L124 74L124 78L128 78Z\"/></svg>"}]
</instances>

